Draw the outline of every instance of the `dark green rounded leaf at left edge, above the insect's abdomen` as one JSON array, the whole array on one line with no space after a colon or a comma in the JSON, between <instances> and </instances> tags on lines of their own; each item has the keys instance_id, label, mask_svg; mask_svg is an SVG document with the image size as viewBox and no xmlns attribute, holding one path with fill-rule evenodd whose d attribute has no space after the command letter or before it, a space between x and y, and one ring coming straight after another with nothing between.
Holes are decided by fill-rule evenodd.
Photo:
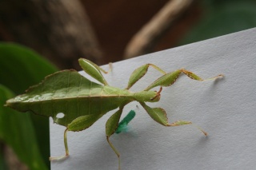
<instances>
[{"instance_id":1,"label":"dark green rounded leaf at left edge, above the insect's abdomen","mask_svg":"<svg viewBox=\"0 0 256 170\"><path fill-rule=\"evenodd\" d=\"M0 65L0 83L16 94L58 70L32 49L12 43L0 43Z\"/></svg>"}]
</instances>

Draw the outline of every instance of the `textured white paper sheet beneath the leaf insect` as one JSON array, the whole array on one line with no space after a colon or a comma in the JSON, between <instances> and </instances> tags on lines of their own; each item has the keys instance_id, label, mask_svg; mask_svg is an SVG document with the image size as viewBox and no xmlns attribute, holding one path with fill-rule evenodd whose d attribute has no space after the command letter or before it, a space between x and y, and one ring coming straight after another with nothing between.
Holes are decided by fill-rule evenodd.
<instances>
[{"instance_id":1,"label":"textured white paper sheet beneath the leaf insect","mask_svg":"<svg viewBox=\"0 0 256 170\"><path fill-rule=\"evenodd\" d=\"M200 82L181 76L162 90L158 103L148 104L165 109L170 122L194 122L208 132L208 137L192 125L158 125L138 102L127 105L122 117L130 109L137 113L129 132L110 138L121 154L122 170L256 167L256 29L114 63L106 80L125 88L133 70L146 63L166 72L186 68L203 78L219 73L225 78ZM142 90L160 76L149 69L131 90ZM106 120L112 113L82 132L68 132L70 157L52 162L51 169L118 169L117 156L105 136ZM51 156L65 153L64 130L50 123Z\"/></svg>"}]
</instances>

